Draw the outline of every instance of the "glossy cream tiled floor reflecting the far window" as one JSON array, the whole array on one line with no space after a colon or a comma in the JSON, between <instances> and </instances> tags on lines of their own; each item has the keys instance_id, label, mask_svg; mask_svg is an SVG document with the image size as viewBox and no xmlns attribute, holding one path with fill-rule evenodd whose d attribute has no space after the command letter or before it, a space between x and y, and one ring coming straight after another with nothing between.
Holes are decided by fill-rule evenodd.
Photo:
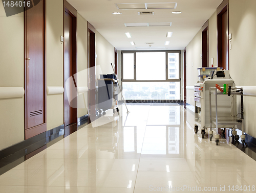
<instances>
[{"instance_id":1,"label":"glossy cream tiled floor reflecting the far window","mask_svg":"<svg viewBox=\"0 0 256 193\"><path fill-rule=\"evenodd\" d=\"M129 114L125 106L109 111L1 175L0 192L255 191L256 162L225 139L216 146L194 134L191 111L127 107Z\"/></svg>"}]
</instances>

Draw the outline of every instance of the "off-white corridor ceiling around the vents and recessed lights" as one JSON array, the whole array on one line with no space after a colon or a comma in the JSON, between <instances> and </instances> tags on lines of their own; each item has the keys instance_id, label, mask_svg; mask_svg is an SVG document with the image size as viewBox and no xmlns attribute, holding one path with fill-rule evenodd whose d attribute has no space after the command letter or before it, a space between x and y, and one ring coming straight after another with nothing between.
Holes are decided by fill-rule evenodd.
<instances>
[{"instance_id":1,"label":"off-white corridor ceiling around the vents and recessed lights","mask_svg":"<svg viewBox=\"0 0 256 193\"><path fill-rule=\"evenodd\" d=\"M136 47L150 47L146 42L154 42L160 50L183 50L198 33L205 21L216 11L223 0L68 0L68 2L88 20L117 50L135 50ZM118 3L177 3L176 9L134 9L118 10ZM138 15L141 11L154 11L154 15ZM181 14L173 14L181 11ZM113 12L121 12L114 15ZM170 27L125 27L124 23L172 22ZM132 38L127 38L130 32ZM167 38L166 33L173 32ZM131 45L134 41L136 45ZM170 41L169 45L164 45ZM145 50L145 49L143 49Z\"/></svg>"}]
</instances>

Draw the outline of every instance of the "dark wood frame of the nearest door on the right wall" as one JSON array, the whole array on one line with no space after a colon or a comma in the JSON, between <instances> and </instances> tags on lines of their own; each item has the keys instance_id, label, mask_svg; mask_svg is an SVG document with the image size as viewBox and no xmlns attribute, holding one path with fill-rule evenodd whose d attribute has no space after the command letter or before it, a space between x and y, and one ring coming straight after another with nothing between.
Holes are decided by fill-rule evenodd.
<instances>
[{"instance_id":1,"label":"dark wood frame of the nearest door on the right wall","mask_svg":"<svg viewBox=\"0 0 256 193\"><path fill-rule=\"evenodd\" d=\"M229 18L228 18L228 0L224 0L220 6L217 8L217 62L219 67L225 67L225 64L222 64L223 62L223 41L222 41L222 15L227 11L227 28L228 28L228 34L229 34ZM228 37L227 37L228 39ZM226 42L228 43L228 42ZM227 67L229 69L229 47L227 48L228 52L228 64Z\"/></svg>"}]
</instances>

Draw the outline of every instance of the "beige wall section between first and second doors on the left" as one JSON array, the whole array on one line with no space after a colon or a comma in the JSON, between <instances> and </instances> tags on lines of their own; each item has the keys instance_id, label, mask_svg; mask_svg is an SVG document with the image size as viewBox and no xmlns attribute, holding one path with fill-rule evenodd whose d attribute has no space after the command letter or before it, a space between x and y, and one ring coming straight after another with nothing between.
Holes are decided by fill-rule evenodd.
<instances>
[{"instance_id":1,"label":"beige wall section between first and second doors on the left","mask_svg":"<svg viewBox=\"0 0 256 193\"><path fill-rule=\"evenodd\" d=\"M63 87L63 1L47 0L47 86ZM47 95L47 130L63 124L63 94Z\"/></svg>"}]
</instances>

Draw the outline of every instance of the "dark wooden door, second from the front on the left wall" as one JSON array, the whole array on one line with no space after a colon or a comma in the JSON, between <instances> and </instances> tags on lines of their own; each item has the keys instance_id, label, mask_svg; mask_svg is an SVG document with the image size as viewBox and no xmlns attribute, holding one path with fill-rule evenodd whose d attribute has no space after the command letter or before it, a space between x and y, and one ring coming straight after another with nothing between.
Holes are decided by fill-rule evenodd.
<instances>
[{"instance_id":1,"label":"dark wooden door, second from the front on the left wall","mask_svg":"<svg viewBox=\"0 0 256 193\"><path fill-rule=\"evenodd\" d=\"M65 2L67 3L67 2ZM76 123L76 16L64 13L64 122Z\"/></svg>"}]
</instances>

